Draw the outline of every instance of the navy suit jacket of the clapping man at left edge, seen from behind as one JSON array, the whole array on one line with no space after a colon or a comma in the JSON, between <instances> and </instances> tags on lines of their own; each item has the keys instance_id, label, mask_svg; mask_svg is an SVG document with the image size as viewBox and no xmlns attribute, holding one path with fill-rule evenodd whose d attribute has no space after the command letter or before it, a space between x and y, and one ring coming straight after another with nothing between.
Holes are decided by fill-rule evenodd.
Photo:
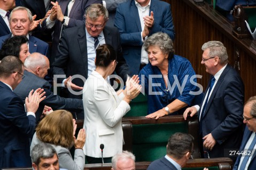
<instances>
[{"instance_id":1,"label":"navy suit jacket of the clapping man at left edge, seen from behind","mask_svg":"<svg viewBox=\"0 0 256 170\"><path fill-rule=\"evenodd\" d=\"M22 100L1 81L0 94L0 168L31 167L29 138L35 117L27 116Z\"/></svg>"}]
</instances>

